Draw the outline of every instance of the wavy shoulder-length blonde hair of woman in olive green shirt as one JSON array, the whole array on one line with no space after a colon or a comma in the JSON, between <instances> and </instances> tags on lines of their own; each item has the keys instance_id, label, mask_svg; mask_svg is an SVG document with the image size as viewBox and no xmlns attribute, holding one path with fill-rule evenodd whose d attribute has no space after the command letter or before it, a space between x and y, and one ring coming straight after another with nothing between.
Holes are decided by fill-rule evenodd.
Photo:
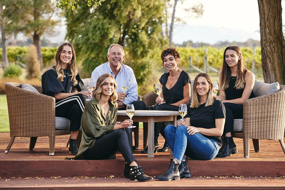
<instances>
[{"instance_id":1,"label":"wavy shoulder-length blonde hair of woman in olive green shirt","mask_svg":"<svg viewBox=\"0 0 285 190\"><path fill-rule=\"evenodd\" d=\"M114 102L118 99L118 94L116 93L116 89L117 89L117 83L116 83L116 80L114 79L114 77L109 74L109 73L105 73L101 76L99 76L99 78L97 79L97 82L96 82L96 88L93 89L93 92L92 92L92 97L99 100L100 97L101 97L101 93L102 93L102 86L103 84L106 82L106 79L108 77L112 77L113 81L114 81L114 91L113 93L111 94L110 96L110 101L111 102Z\"/></svg>"}]
</instances>

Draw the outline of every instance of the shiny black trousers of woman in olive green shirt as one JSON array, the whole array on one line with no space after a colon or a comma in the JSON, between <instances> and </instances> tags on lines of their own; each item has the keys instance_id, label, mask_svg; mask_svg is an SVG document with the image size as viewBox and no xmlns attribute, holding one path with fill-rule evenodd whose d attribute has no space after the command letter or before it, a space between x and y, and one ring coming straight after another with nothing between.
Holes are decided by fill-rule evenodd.
<instances>
[{"instance_id":1,"label":"shiny black trousers of woman in olive green shirt","mask_svg":"<svg viewBox=\"0 0 285 190\"><path fill-rule=\"evenodd\" d=\"M128 165L136 161L129 147L127 133L124 129L116 129L96 139L94 146L87 149L83 155L87 160L106 159L119 150Z\"/></svg>"}]
</instances>

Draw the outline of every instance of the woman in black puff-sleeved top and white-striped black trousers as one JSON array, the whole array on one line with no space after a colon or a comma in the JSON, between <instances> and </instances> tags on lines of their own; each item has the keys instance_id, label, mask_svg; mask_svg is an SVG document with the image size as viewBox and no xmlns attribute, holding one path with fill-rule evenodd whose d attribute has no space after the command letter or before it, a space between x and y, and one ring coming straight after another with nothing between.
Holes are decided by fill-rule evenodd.
<instances>
[{"instance_id":1,"label":"woman in black puff-sleeved top and white-striped black trousers","mask_svg":"<svg viewBox=\"0 0 285 190\"><path fill-rule=\"evenodd\" d=\"M70 120L70 142L68 152L78 152L76 139L80 130L85 98L92 94L82 91L84 84L75 66L76 55L70 43L59 46L55 55L55 65L42 75L42 93L55 97L55 116Z\"/></svg>"}]
</instances>

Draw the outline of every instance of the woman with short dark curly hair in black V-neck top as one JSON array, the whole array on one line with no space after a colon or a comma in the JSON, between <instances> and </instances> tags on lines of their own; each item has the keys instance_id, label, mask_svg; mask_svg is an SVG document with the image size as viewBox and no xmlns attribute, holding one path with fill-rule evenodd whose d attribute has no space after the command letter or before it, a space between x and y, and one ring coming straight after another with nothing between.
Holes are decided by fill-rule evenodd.
<instances>
[{"instance_id":1,"label":"woman with short dark curly hair in black V-neck top","mask_svg":"<svg viewBox=\"0 0 285 190\"><path fill-rule=\"evenodd\" d=\"M156 104L153 110L169 110L178 111L180 104L188 104L190 102L190 76L187 72L178 68L180 61L180 54L176 48L168 48L161 52L162 65L168 71L164 73L160 79L160 87L162 92L160 97L156 98L156 103L164 102L164 104ZM152 108L152 107L151 107ZM180 117L180 116L179 116ZM181 117L180 117L181 118ZM179 119L179 118L178 118ZM158 149L159 133L164 137L164 122L157 122L154 124L154 151ZM147 153L146 147L142 153ZM158 152L166 152L169 149L167 140Z\"/></svg>"}]
</instances>

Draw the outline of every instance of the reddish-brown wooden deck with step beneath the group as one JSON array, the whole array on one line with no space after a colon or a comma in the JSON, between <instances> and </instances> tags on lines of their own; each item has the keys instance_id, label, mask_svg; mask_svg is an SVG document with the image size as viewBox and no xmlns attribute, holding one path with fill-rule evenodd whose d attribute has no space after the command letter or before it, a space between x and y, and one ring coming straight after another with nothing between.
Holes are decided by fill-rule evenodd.
<instances>
[{"instance_id":1,"label":"reddish-brown wooden deck with step beneath the group","mask_svg":"<svg viewBox=\"0 0 285 190\"><path fill-rule=\"evenodd\" d=\"M147 175L157 176L169 166L172 155L155 153L154 158L141 154L143 134L134 157ZM69 136L56 136L55 156L49 156L48 137L39 137L34 151L28 151L29 138L16 138L9 153L8 132L0 133L0 189L285 189L285 155L278 140L260 140L260 153L250 142L250 158L243 157L243 140L235 138L237 154L211 161L188 160L194 177L178 181L152 180L139 183L123 177L124 159L64 160ZM164 140L159 137L162 147ZM110 176L112 179L110 178ZM81 176L81 177L78 177ZM84 177L82 177L84 176Z\"/></svg>"}]
</instances>

